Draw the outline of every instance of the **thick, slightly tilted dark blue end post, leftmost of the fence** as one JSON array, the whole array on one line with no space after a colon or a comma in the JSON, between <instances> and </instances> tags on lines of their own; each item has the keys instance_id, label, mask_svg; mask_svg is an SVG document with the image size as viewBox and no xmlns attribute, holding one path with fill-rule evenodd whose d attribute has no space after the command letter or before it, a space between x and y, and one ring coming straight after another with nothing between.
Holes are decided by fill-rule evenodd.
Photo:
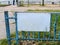
<instances>
[{"instance_id":1,"label":"thick, slightly tilted dark blue end post, leftmost of the fence","mask_svg":"<svg viewBox=\"0 0 60 45\"><path fill-rule=\"evenodd\" d=\"M4 16L5 16L6 35L7 35L8 45L11 45L8 11L4 12Z\"/></svg>"}]
</instances>

